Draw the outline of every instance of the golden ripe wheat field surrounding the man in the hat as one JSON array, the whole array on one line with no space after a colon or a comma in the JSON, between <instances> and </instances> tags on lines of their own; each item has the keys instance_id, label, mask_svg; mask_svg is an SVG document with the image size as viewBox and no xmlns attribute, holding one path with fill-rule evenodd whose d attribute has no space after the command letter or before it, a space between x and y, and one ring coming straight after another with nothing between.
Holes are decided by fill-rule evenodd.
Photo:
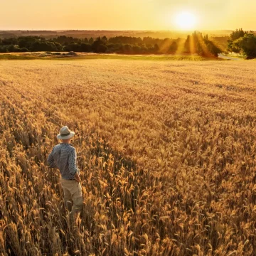
<instances>
[{"instance_id":1,"label":"golden ripe wheat field surrounding the man in the hat","mask_svg":"<svg viewBox=\"0 0 256 256\"><path fill-rule=\"evenodd\" d=\"M0 255L256 255L255 64L1 60ZM63 125L75 224L46 164Z\"/></svg>"}]
</instances>

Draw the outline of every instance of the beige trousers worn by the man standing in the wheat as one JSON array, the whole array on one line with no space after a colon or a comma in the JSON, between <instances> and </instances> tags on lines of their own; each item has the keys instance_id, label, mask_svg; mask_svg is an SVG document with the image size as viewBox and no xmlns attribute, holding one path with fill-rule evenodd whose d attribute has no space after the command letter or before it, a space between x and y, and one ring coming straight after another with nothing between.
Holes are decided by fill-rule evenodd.
<instances>
[{"instance_id":1,"label":"beige trousers worn by the man standing in the wheat","mask_svg":"<svg viewBox=\"0 0 256 256\"><path fill-rule=\"evenodd\" d=\"M65 206L71 215L82 211L82 187L78 181L61 178L60 184L63 187Z\"/></svg>"}]
</instances>

